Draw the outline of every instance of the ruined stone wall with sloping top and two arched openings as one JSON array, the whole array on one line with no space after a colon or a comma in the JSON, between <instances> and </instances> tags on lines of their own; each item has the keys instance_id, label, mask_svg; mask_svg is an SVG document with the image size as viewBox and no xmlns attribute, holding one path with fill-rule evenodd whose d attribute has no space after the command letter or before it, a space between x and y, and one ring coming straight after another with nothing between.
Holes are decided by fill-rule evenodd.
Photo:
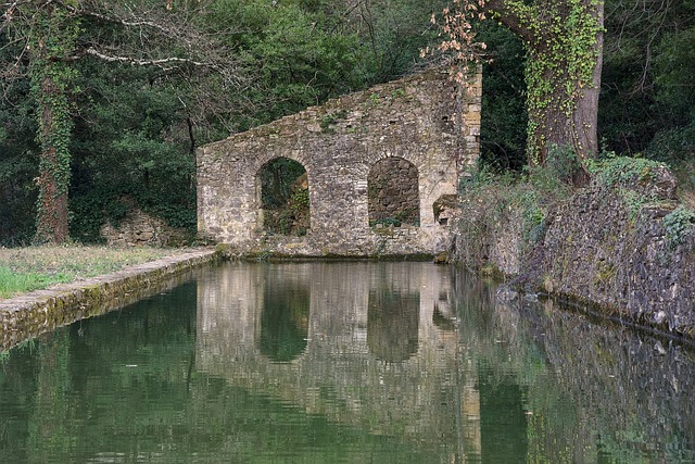
<instances>
[{"instance_id":1,"label":"ruined stone wall with sloping top and two arched openings","mask_svg":"<svg viewBox=\"0 0 695 464\"><path fill-rule=\"evenodd\" d=\"M291 255L433 254L451 227L434 203L455 195L475 162L480 134L480 75L470 92L431 70L236 134L198 150L199 233L241 252ZM263 231L257 173L276 158L307 172L311 227L305 237ZM372 228L368 174L397 158L417 168L419 226Z\"/></svg>"}]
</instances>

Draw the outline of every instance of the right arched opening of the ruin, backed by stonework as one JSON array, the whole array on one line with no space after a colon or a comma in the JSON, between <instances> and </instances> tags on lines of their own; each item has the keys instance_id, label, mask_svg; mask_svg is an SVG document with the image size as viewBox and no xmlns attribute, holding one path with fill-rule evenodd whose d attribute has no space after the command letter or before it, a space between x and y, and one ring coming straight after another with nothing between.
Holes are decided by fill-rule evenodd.
<instances>
[{"instance_id":1,"label":"right arched opening of the ruin, backed by stonework","mask_svg":"<svg viewBox=\"0 0 695 464\"><path fill-rule=\"evenodd\" d=\"M417 167L402 158L376 163L367 177L369 225L420 225Z\"/></svg>"}]
</instances>

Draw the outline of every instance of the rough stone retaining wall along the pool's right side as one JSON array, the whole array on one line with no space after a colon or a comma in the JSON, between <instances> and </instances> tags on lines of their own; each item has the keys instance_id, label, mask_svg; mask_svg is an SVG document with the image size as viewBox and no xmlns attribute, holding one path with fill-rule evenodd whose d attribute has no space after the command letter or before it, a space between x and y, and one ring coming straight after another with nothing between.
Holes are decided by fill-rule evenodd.
<instances>
[{"instance_id":1,"label":"rough stone retaining wall along the pool's right side","mask_svg":"<svg viewBox=\"0 0 695 464\"><path fill-rule=\"evenodd\" d=\"M519 276L521 284L597 304L626 322L695 338L695 231L674 243L664 225L678 204L675 179L661 168L628 190L601 183L580 190L546 218L535 244L523 237L522 214L509 212L510 222L486 230L478 247L490 264ZM630 191L650 201L630 204ZM462 261L466 240L457 238Z\"/></svg>"}]
</instances>

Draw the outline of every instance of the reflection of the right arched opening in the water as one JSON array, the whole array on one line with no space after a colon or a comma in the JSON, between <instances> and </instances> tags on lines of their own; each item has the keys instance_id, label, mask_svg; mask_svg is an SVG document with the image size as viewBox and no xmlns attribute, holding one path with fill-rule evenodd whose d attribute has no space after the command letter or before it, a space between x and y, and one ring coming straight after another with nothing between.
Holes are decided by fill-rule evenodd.
<instances>
[{"instance_id":1,"label":"reflection of the right arched opening in the water","mask_svg":"<svg viewBox=\"0 0 695 464\"><path fill-rule=\"evenodd\" d=\"M369 291L367 346L382 361L402 362L417 352L420 297L382 287Z\"/></svg>"}]
</instances>

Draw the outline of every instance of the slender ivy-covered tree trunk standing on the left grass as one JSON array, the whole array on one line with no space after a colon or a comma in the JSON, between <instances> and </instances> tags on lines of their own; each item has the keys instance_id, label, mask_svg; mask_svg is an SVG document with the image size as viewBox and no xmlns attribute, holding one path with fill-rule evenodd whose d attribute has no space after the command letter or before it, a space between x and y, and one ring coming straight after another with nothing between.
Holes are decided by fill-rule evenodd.
<instances>
[{"instance_id":1,"label":"slender ivy-covered tree trunk standing on the left grass","mask_svg":"<svg viewBox=\"0 0 695 464\"><path fill-rule=\"evenodd\" d=\"M68 58L74 49L78 25L60 7L48 5L37 12L35 34L29 42L31 96L38 122L40 145L37 242L61 243L68 238L67 191L73 122L68 86L74 71Z\"/></svg>"}]
</instances>

